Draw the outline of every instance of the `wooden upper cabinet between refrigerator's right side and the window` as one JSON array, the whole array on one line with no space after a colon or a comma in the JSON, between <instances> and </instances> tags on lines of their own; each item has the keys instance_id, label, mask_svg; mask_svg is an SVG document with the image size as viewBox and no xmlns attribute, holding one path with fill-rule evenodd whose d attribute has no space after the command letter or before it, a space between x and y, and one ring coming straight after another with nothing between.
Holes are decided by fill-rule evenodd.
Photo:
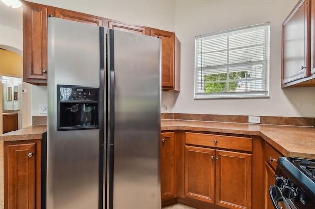
<instances>
[{"instance_id":1,"label":"wooden upper cabinet between refrigerator's right side and the window","mask_svg":"<svg viewBox=\"0 0 315 209\"><path fill-rule=\"evenodd\" d=\"M180 42L173 32L151 29L162 42L162 90L180 91Z\"/></svg>"}]
</instances>

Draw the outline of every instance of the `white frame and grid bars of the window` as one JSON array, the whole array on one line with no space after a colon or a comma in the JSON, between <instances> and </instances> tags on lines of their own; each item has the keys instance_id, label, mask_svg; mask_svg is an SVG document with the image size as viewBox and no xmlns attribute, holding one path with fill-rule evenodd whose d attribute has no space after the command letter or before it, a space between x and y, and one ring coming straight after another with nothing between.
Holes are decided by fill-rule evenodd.
<instances>
[{"instance_id":1,"label":"white frame and grid bars of the window","mask_svg":"<svg viewBox=\"0 0 315 209\"><path fill-rule=\"evenodd\" d=\"M243 33L246 33L246 30L248 29L253 29L253 28L264 28L264 35L263 35L263 59L259 60L254 60L254 61L245 61L245 62L232 62L229 63L229 52L231 50L235 49L249 49L249 46L239 46L236 48L230 48L229 47L229 36L233 32L237 31L243 31ZM266 34L267 33L267 34ZM218 36L218 39L220 37L223 37L223 35L226 35L226 50L209 50L208 52L213 53L213 52L224 52L226 51L226 64L219 64L219 65L208 65L206 67L202 66L203 62L198 62L198 54L206 54L203 52L203 50L198 50L198 40L201 38L207 38L207 37L214 37ZM203 46L203 44L201 44ZM259 46L259 44L256 44L256 47ZM257 50L256 50L257 51ZM221 32L216 32L216 33L210 33L210 34L205 34L201 36L196 36L195 37L195 66L194 66L194 99L224 99L224 98L269 98L269 62L270 62L270 22L267 23L262 23L262 24L257 24L257 25L252 25L252 26L245 26L245 27L240 27L240 28L235 28L231 30L226 30L226 31L221 31ZM200 66L197 66L197 64L200 64ZM237 67L237 66L248 66L249 69L253 66L256 65L262 65L262 70L261 70L261 78L246 78L244 79L236 79L236 80L230 80L229 78L229 73L230 68ZM257 81L261 80L261 85L262 85L262 90L261 91L235 91L235 92L218 92L218 93L205 93L204 92L204 86L207 81L204 81L204 76L205 75L211 75L211 74L216 74L211 72L211 70L216 70L217 69L217 74L220 74L220 69L219 68L226 68L226 70L221 70L222 73L226 73L226 80L218 80L218 81L210 81L209 83L216 83L216 82L221 82L227 83L227 88L229 87L230 82L238 82L238 81L245 81L246 84L248 84L249 81ZM205 73L206 71L209 71L209 73ZM238 71L234 71L238 72ZM239 72L245 72L245 71L239 71ZM249 72L249 70L247 71ZM198 74L203 74L203 75L198 75ZM246 85L247 86L247 85ZM197 91L197 87L200 89ZM226 88L225 88L226 89ZM203 91L203 92L200 92Z\"/></svg>"}]
</instances>

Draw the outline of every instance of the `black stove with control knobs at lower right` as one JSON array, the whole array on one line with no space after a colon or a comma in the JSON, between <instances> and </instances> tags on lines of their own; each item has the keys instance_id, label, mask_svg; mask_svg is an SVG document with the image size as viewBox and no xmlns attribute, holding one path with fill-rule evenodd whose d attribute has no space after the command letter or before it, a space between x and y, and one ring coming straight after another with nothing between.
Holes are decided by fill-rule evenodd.
<instances>
[{"instance_id":1,"label":"black stove with control knobs at lower right","mask_svg":"<svg viewBox=\"0 0 315 209\"><path fill-rule=\"evenodd\" d=\"M280 157L269 193L275 209L315 209L315 160Z\"/></svg>"}]
</instances>

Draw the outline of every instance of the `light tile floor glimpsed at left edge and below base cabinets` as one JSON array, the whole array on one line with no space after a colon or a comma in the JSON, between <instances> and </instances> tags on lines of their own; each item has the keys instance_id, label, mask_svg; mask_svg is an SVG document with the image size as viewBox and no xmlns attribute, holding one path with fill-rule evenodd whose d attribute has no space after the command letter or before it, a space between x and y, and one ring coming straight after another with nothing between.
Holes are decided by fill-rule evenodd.
<instances>
[{"instance_id":1,"label":"light tile floor glimpsed at left edge and below base cabinets","mask_svg":"<svg viewBox=\"0 0 315 209\"><path fill-rule=\"evenodd\" d=\"M0 209L4 209L4 180L3 180L3 142L0 142ZM195 209L182 204L163 207L162 209Z\"/></svg>"}]
</instances>

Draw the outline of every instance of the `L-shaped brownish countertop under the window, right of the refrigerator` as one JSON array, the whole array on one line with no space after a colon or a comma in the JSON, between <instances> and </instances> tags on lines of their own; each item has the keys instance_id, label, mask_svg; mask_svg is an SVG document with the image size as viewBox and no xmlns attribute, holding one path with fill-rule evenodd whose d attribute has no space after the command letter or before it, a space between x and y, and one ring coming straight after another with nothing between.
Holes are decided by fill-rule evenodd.
<instances>
[{"instance_id":1,"label":"L-shaped brownish countertop under the window, right of the refrigerator","mask_svg":"<svg viewBox=\"0 0 315 209\"><path fill-rule=\"evenodd\" d=\"M260 136L287 157L315 159L315 128L188 120L162 120L162 131L209 131Z\"/></svg>"}]
</instances>

